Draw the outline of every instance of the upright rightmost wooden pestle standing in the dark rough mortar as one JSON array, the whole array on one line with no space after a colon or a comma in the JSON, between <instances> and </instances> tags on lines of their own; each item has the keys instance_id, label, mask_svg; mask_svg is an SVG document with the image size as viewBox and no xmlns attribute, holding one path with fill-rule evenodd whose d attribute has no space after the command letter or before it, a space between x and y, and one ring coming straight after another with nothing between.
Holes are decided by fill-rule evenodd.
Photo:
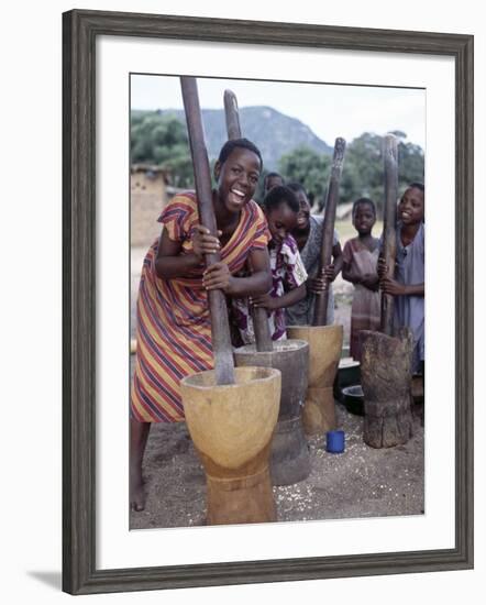
<instances>
[{"instance_id":1,"label":"upright rightmost wooden pestle standing in the dark rough mortar","mask_svg":"<svg viewBox=\"0 0 486 605\"><path fill-rule=\"evenodd\" d=\"M398 200L398 147L397 139L387 134L384 141L385 165L385 209L383 224L383 257L388 266L388 277L395 276L395 258L397 255L397 200ZM380 331L393 336L394 332L394 297L382 292Z\"/></svg>"}]
</instances>

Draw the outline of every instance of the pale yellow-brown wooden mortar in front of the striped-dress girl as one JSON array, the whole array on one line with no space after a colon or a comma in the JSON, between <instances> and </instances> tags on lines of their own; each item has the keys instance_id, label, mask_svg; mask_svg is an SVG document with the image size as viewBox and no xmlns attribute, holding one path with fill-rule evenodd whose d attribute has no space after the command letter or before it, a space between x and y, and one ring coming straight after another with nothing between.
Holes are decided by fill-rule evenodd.
<instances>
[{"instance_id":1,"label":"pale yellow-brown wooden mortar in front of the striped-dress girl","mask_svg":"<svg viewBox=\"0 0 486 605\"><path fill-rule=\"evenodd\" d=\"M278 418L280 372L236 367L235 384L214 372L180 381L187 427L207 479L208 525L276 520L268 469Z\"/></svg>"}]
</instances>

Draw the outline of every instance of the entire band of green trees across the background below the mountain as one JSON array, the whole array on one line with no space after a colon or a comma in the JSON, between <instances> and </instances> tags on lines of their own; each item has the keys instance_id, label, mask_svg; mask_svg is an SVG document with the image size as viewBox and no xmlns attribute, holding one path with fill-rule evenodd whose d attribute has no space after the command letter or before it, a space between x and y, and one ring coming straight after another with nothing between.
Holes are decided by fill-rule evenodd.
<instances>
[{"instance_id":1,"label":"entire band of green trees across the background below the mountain","mask_svg":"<svg viewBox=\"0 0 486 605\"><path fill-rule=\"evenodd\" d=\"M162 166L169 172L174 186L194 188L187 131L185 123L180 121L179 113L132 111L131 160L132 163ZM424 158L421 147L405 143L404 132L396 131L394 134L398 139L398 187L401 195L409 183L423 182ZM366 196L375 200L378 211L382 210L384 197L382 145L383 138L368 132L347 145L340 202L353 201ZM301 183L308 191L311 204L316 201L322 208L331 161L329 154L314 151L308 145L298 145L291 152L281 155L278 172L286 182ZM258 200L263 196L263 176L255 196Z\"/></svg>"}]
</instances>

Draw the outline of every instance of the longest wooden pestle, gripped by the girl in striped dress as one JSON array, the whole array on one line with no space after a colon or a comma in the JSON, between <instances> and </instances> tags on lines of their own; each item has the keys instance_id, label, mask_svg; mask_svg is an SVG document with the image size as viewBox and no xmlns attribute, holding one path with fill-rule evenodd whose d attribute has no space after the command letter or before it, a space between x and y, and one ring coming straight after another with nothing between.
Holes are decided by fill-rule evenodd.
<instances>
[{"instance_id":1,"label":"longest wooden pestle, gripped by the girl in striped dress","mask_svg":"<svg viewBox=\"0 0 486 605\"><path fill-rule=\"evenodd\" d=\"M217 224L212 206L211 172L205 143L196 78L181 77L180 86L183 89L190 153L195 172L199 219L201 224L209 229L211 235L217 237ZM220 260L219 253L206 254L205 256L206 266L210 266ZM222 290L209 290L208 300L217 384L233 384L234 362L224 293Z\"/></svg>"}]
</instances>

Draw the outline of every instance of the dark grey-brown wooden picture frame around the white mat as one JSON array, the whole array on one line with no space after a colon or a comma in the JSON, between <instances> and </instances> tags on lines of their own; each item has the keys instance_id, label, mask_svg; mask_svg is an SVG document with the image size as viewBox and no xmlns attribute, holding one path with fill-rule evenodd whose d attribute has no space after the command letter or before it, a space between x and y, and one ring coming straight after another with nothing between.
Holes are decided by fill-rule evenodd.
<instances>
[{"instance_id":1,"label":"dark grey-brown wooden picture frame around the white mat","mask_svg":"<svg viewBox=\"0 0 486 605\"><path fill-rule=\"evenodd\" d=\"M96 38L98 35L449 55L455 61L455 547L96 569ZM448 571L473 566L473 36L154 14L63 15L63 588L71 594Z\"/></svg>"}]
</instances>

